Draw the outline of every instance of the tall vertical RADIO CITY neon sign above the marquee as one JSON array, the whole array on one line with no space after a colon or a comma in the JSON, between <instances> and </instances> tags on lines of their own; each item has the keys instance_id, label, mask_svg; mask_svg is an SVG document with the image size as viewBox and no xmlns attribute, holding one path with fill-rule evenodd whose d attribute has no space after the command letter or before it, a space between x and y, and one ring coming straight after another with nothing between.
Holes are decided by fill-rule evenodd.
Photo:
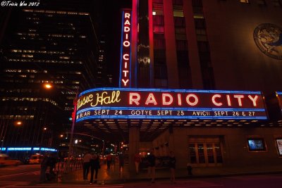
<instances>
[{"instance_id":1,"label":"tall vertical RADIO CITY neon sign above the marquee","mask_svg":"<svg viewBox=\"0 0 282 188\"><path fill-rule=\"evenodd\" d=\"M130 87L131 11L123 10L119 87Z\"/></svg>"}]
</instances>

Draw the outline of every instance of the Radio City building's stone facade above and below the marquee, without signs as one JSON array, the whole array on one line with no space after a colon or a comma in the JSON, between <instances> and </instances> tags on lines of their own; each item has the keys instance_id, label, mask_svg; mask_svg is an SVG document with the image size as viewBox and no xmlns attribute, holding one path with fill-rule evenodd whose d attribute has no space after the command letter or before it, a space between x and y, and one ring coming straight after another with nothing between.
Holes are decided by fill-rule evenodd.
<instances>
[{"instance_id":1,"label":"Radio City building's stone facade above and below the marquee, without signs","mask_svg":"<svg viewBox=\"0 0 282 188\"><path fill-rule=\"evenodd\" d=\"M281 91L281 9L281 1L133 0L135 87ZM173 122L152 148L174 151L177 168L281 163L281 118Z\"/></svg>"}]
</instances>

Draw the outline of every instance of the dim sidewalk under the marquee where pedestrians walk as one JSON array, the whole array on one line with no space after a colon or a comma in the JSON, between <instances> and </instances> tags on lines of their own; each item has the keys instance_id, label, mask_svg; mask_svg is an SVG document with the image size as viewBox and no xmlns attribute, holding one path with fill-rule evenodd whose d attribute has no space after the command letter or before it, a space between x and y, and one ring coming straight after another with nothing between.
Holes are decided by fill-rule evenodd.
<instances>
[{"instance_id":1,"label":"dim sidewalk under the marquee where pedestrians walk","mask_svg":"<svg viewBox=\"0 0 282 188\"><path fill-rule=\"evenodd\" d=\"M177 169L176 178L196 178L196 177L220 177L232 175L257 175L268 173L282 173L282 164L275 166L246 166L246 167L199 167L193 168L193 176L188 177L186 169ZM156 169L156 179L168 179L170 177L169 169ZM88 181L84 181L82 177L82 169L74 172L63 174L62 183L85 183L89 184L90 173ZM118 184L125 182L136 182L149 180L147 170L141 170L138 175L130 173L128 165L119 172L118 165L112 165L111 169L107 170L106 165L102 165L98 173L98 184Z\"/></svg>"}]
</instances>

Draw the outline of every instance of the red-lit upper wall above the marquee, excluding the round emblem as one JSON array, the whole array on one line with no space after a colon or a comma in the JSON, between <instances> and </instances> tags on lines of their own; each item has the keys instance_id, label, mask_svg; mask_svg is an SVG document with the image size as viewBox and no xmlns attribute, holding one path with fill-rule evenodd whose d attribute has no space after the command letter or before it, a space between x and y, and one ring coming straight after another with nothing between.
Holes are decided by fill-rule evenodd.
<instances>
[{"instance_id":1,"label":"red-lit upper wall above the marquee, excluding the round emblem","mask_svg":"<svg viewBox=\"0 0 282 188\"><path fill-rule=\"evenodd\" d=\"M254 39L256 27L263 23L282 27L278 2L147 1L152 7L148 18L153 80L147 87L265 94L281 90L281 59L266 56ZM144 87L142 79L138 82Z\"/></svg>"}]
</instances>

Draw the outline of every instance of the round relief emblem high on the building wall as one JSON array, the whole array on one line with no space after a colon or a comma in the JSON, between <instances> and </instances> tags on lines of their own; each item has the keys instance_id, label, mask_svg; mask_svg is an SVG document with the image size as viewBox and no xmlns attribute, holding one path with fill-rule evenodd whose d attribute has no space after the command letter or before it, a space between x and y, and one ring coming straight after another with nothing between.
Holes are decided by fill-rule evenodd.
<instances>
[{"instance_id":1,"label":"round relief emblem high on the building wall","mask_svg":"<svg viewBox=\"0 0 282 188\"><path fill-rule=\"evenodd\" d=\"M254 40L264 54L282 60L281 27L271 23L263 23L255 28Z\"/></svg>"}]
</instances>

